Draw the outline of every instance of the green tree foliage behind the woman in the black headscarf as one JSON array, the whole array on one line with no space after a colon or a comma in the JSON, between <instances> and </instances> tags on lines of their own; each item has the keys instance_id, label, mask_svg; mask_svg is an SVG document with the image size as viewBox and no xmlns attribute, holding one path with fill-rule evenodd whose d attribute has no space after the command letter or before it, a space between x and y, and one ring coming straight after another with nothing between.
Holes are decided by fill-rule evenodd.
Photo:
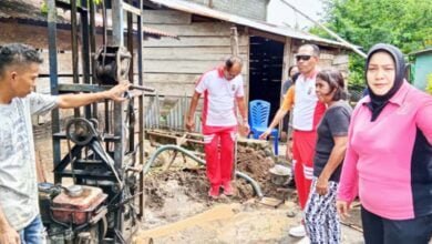
<instances>
[{"instance_id":1,"label":"green tree foliage behind the woman in the black headscarf","mask_svg":"<svg viewBox=\"0 0 432 244\"><path fill-rule=\"evenodd\" d=\"M432 45L431 0L321 0L323 23L364 51L383 42L409 53ZM311 32L330 38L319 28ZM364 84L364 60L350 54L349 84Z\"/></svg>"}]
</instances>

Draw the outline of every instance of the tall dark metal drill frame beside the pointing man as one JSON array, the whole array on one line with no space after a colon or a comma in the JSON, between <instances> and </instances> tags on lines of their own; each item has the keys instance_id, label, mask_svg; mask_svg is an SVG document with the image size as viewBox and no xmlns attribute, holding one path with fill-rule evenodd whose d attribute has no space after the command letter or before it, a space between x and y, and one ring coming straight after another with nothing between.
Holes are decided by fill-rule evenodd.
<instances>
[{"instance_id":1,"label":"tall dark metal drill frame beside the pointing man","mask_svg":"<svg viewBox=\"0 0 432 244\"><path fill-rule=\"evenodd\" d=\"M80 6L78 7L78 0L70 0L70 3L65 3L59 0L48 0L48 31L49 31L49 62L50 62L50 81L51 81L51 94L58 95L62 93L70 92L97 92L110 89L110 87L99 85L96 79L94 77L95 64L92 59L92 54L96 52L96 27L95 27L95 4L92 0L81 0ZM105 0L110 1L110 0ZM112 42L115 45L123 45L123 10L127 11L127 50L131 52L132 57L134 57L134 42L133 39L137 38L137 85L143 85L143 18L142 18L142 9L143 9L143 0L126 0L127 2L123 2L122 0L111 0L111 7L113 12L113 30L112 30ZM89 7L89 8L84 8ZM72 67L73 73L66 74L66 77L73 78L73 84L61 84L59 83L59 73L58 73L58 49L56 49L56 9L62 8L71 11L71 43L72 43ZM80 14L81 27L78 26L76 16ZM137 19L137 33L133 32L133 14L136 16ZM79 39L81 43L81 61L82 61L82 73L79 73ZM106 42L105 42L106 43ZM128 79L131 83L134 83L134 60L131 61L131 67L128 72ZM62 74L64 77L64 74ZM144 139L144 93L140 95L135 95L131 99L132 102L130 104L137 104L138 114L137 120L138 128L138 141ZM134 101L135 100L135 101ZM137 103L136 103L137 100ZM126 119L126 114L124 112L125 104L114 104L114 110L110 111L107 101L104 102L104 118L105 124L103 128L104 136L103 143L107 153L114 160L115 169L119 170L119 176L122 180L125 180L127 176L125 171L122 171L124 164L130 162L131 160L136 164L144 164L144 146L143 143L136 142L135 140L135 128L128 126L127 134L123 130L123 124ZM74 110L75 118L85 118L88 120L97 119L97 103L86 105L84 108L84 113L81 114L80 109ZM111 123L111 119L114 121ZM66 153L64 157L61 157L61 142L66 139L65 132L61 130L61 121L59 110L54 110L52 112L52 145L53 145L53 164L54 164L54 183L61 184L62 179L72 177L74 175L76 177L76 183L89 183L91 181L94 182L106 182L106 185L97 185L102 187L105 192L109 193L109 202L112 206L117 206L113 209L111 214L113 221L109 226L109 233L111 232L111 237L115 243L123 243L123 233L125 233L125 214L123 204L125 199L123 197L123 192L116 192L117 184L114 175L110 173L110 169L105 169L106 173L94 173L89 171L89 165L91 166L102 166L103 162L91 162L89 160L89 155L86 155L86 146L85 145L74 145L71 148L71 152ZM128 145L125 149L125 145ZM136 152L136 156L132 152ZM68 166L71 164L72 154L74 160L74 166L69 170ZM133 159L131 159L131 156ZM100 159L97 159L100 160ZM136 182L137 190L133 192L133 194L140 193L143 191L143 173L140 172L138 182ZM134 200L132 200L134 201ZM143 216L143 197L140 197L138 201L138 217ZM127 218L127 216L126 216ZM119 234L120 232L120 234Z\"/></svg>"}]
</instances>

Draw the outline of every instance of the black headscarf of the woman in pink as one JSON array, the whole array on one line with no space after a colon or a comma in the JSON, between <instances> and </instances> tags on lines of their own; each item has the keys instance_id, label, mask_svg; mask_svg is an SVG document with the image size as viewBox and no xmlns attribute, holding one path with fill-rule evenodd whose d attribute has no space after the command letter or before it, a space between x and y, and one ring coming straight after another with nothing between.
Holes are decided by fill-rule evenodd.
<instances>
[{"instance_id":1,"label":"black headscarf of the woman in pink","mask_svg":"<svg viewBox=\"0 0 432 244\"><path fill-rule=\"evenodd\" d=\"M368 58L366 61L366 75L368 73L368 67L371 57L377 53L377 52L387 52L389 53L393 61L394 61L394 83L393 87L383 95L377 95L373 93L372 89L370 89L369 83L368 84L368 90L369 90L369 96L370 96L370 102L367 103L368 108L372 112L372 118L371 121L376 121L377 118L380 115L382 110L385 108L385 105L389 103L389 100L399 91L399 89L402 87L403 81L404 81L404 74L405 74L405 61L403 60L403 54L402 52L395 48L394 45L391 44L383 44L379 43L373 45L368 53Z\"/></svg>"}]
</instances>

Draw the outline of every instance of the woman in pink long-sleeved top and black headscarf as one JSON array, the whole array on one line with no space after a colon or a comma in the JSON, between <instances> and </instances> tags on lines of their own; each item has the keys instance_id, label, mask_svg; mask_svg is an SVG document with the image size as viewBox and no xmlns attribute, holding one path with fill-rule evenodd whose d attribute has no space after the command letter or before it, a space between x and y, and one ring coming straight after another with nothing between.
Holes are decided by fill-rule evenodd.
<instances>
[{"instance_id":1,"label":"woman in pink long-sleeved top and black headscarf","mask_svg":"<svg viewBox=\"0 0 432 244\"><path fill-rule=\"evenodd\" d=\"M369 95L348 131L337 209L359 195L367 244L426 244L432 236L432 96L404 78L401 51L376 44L366 63Z\"/></svg>"}]
</instances>

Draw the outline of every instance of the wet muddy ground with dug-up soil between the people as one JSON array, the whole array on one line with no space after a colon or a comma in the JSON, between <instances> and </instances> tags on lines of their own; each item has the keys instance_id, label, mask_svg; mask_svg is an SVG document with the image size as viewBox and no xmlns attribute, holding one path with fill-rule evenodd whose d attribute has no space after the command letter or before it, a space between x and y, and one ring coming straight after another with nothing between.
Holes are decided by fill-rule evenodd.
<instances>
[{"instance_id":1,"label":"wet muddy ground with dug-up soil between the people","mask_svg":"<svg viewBox=\"0 0 432 244\"><path fill-rule=\"evenodd\" d=\"M37 138L38 161L43 165L47 181L52 182L52 145L50 136ZM64 153L66 145L62 146ZM155 149L146 143L146 151ZM281 145L280 152L284 152ZM164 170L171 154L162 154L160 162L145 177L144 220L135 235L136 243L152 237L154 243L296 243L288 230L301 221L295 190L271 183L268 170L280 159L269 156L268 151L250 148L238 149L237 170L255 179L265 196L284 201L278 207L264 205L253 187L243 179L236 179L236 195L219 200L207 196L208 182L205 167L192 160L177 156L174 164ZM165 159L164 159L165 157ZM289 215L289 217L287 216ZM359 223L354 211L352 223ZM361 233L342 227L343 243L362 243Z\"/></svg>"}]
</instances>

